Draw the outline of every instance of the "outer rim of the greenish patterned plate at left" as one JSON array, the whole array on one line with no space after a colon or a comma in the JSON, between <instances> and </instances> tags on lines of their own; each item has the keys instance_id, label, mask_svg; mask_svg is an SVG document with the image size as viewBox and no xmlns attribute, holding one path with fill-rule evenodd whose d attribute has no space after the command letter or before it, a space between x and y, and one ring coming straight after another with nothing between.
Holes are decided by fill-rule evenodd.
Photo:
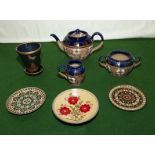
<instances>
[{"instance_id":1,"label":"outer rim of the greenish patterned plate at left","mask_svg":"<svg viewBox=\"0 0 155 155\"><path fill-rule=\"evenodd\" d=\"M44 100L43 100L43 102L42 102L42 104L38 107L38 108L36 108L36 109L34 109L34 110L31 110L30 112L26 112L26 113L15 113L15 112L13 112L13 111L11 111L10 109L9 109L9 100L11 99L11 97L14 95L14 94L16 94L18 91L21 91L21 90L23 90L23 89L29 89L29 88L35 88L35 89L38 89L38 90L40 90L43 94L44 94ZM10 112L10 113L12 113L12 114L15 114L15 115L19 115L19 116L21 116L21 115L26 115L26 114L30 114L30 113L32 113L32 112L35 112L36 110L38 110L44 103L45 103L45 101L46 101L46 93L45 93L45 91L43 90L43 89L41 89L41 88L38 88L38 87L24 87L24 88L21 88L21 89L18 89L18 90L16 90L16 91L14 91L8 98L7 98L7 100L6 100L6 103L5 103L5 106L6 106L6 109L8 110L8 112Z\"/></svg>"}]
</instances>

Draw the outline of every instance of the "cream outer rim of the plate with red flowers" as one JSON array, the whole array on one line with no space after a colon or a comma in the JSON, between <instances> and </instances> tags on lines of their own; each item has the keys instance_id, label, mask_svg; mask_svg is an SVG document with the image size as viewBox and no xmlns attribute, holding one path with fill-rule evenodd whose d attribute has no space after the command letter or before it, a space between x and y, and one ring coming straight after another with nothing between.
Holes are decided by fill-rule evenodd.
<instances>
[{"instance_id":1,"label":"cream outer rim of the plate with red flowers","mask_svg":"<svg viewBox=\"0 0 155 155\"><path fill-rule=\"evenodd\" d=\"M88 93L90 93L91 95L93 95L93 96L95 97L96 101L97 101L97 110L96 110L95 114L94 114L92 117L90 117L89 119L87 119L87 120L85 120L85 121L79 121L79 122L69 122L69 121L65 121L64 119L61 119L60 117L58 117L58 116L55 114L55 112L54 112L54 104L55 104L55 101L56 101L56 99L57 99L61 94L65 93L65 92L68 92L68 91L71 91L71 90L76 90L76 89L82 90L82 91L85 91L85 92L88 92ZM82 89L82 88L71 88L71 89L67 89L67 90L64 90L64 91L62 91L61 93L59 93L59 94L54 98L54 100L53 100L53 102L52 102L52 112L53 112L54 116L55 116L56 118L58 118L60 121L62 121L62 122L65 122L65 123L68 123L68 124L82 124L82 123L88 122L88 121L90 121L91 119L95 118L95 116L98 114L98 112L99 112L99 100L98 100L98 98L97 98L92 92L90 92L90 91L87 90L87 89Z\"/></svg>"}]
</instances>

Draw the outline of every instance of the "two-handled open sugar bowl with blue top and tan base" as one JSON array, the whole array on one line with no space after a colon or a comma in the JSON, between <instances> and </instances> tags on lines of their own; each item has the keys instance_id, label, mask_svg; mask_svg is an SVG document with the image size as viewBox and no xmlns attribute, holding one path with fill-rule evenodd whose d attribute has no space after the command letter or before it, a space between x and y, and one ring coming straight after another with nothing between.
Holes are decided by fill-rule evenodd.
<instances>
[{"instance_id":1,"label":"two-handled open sugar bowl with blue top and tan base","mask_svg":"<svg viewBox=\"0 0 155 155\"><path fill-rule=\"evenodd\" d=\"M121 50L112 51L108 56L99 58L100 66L106 68L114 76L127 75L140 63L139 57L134 57L129 52Z\"/></svg>"}]
</instances>

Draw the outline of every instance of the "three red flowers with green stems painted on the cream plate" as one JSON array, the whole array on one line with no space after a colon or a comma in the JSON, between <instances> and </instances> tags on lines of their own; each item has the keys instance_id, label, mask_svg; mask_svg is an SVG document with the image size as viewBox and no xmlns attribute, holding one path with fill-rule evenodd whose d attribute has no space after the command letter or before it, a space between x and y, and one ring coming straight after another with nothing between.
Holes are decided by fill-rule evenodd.
<instances>
[{"instance_id":1,"label":"three red flowers with green stems painted on the cream plate","mask_svg":"<svg viewBox=\"0 0 155 155\"><path fill-rule=\"evenodd\" d=\"M67 102L65 104L65 102ZM80 96L75 96L72 93L64 99L64 104L61 104L58 109L59 115L66 117L72 121L82 120L86 114L91 111L92 104L90 101L83 101Z\"/></svg>"}]
</instances>

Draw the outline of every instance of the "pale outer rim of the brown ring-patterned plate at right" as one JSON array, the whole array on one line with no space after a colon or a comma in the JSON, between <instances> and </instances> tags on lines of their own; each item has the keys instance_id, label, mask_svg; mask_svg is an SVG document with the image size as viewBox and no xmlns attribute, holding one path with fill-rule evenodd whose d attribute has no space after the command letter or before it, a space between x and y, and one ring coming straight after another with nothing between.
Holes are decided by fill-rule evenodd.
<instances>
[{"instance_id":1,"label":"pale outer rim of the brown ring-patterned plate at right","mask_svg":"<svg viewBox=\"0 0 155 155\"><path fill-rule=\"evenodd\" d=\"M122 106L116 104L111 96L112 96L113 91L118 89L118 88L132 88L135 91L137 91L138 93L140 93L143 97L143 103L141 104L141 106L136 107L136 108L129 108L129 107L122 107ZM146 105L146 96L144 95L143 91L141 91L140 89L138 89L132 85L129 85L129 84L122 84L122 85L117 85L117 86L113 87L109 91L109 99L114 106L116 106L119 109L125 110L125 111L136 111L136 110L142 109Z\"/></svg>"}]
</instances>

